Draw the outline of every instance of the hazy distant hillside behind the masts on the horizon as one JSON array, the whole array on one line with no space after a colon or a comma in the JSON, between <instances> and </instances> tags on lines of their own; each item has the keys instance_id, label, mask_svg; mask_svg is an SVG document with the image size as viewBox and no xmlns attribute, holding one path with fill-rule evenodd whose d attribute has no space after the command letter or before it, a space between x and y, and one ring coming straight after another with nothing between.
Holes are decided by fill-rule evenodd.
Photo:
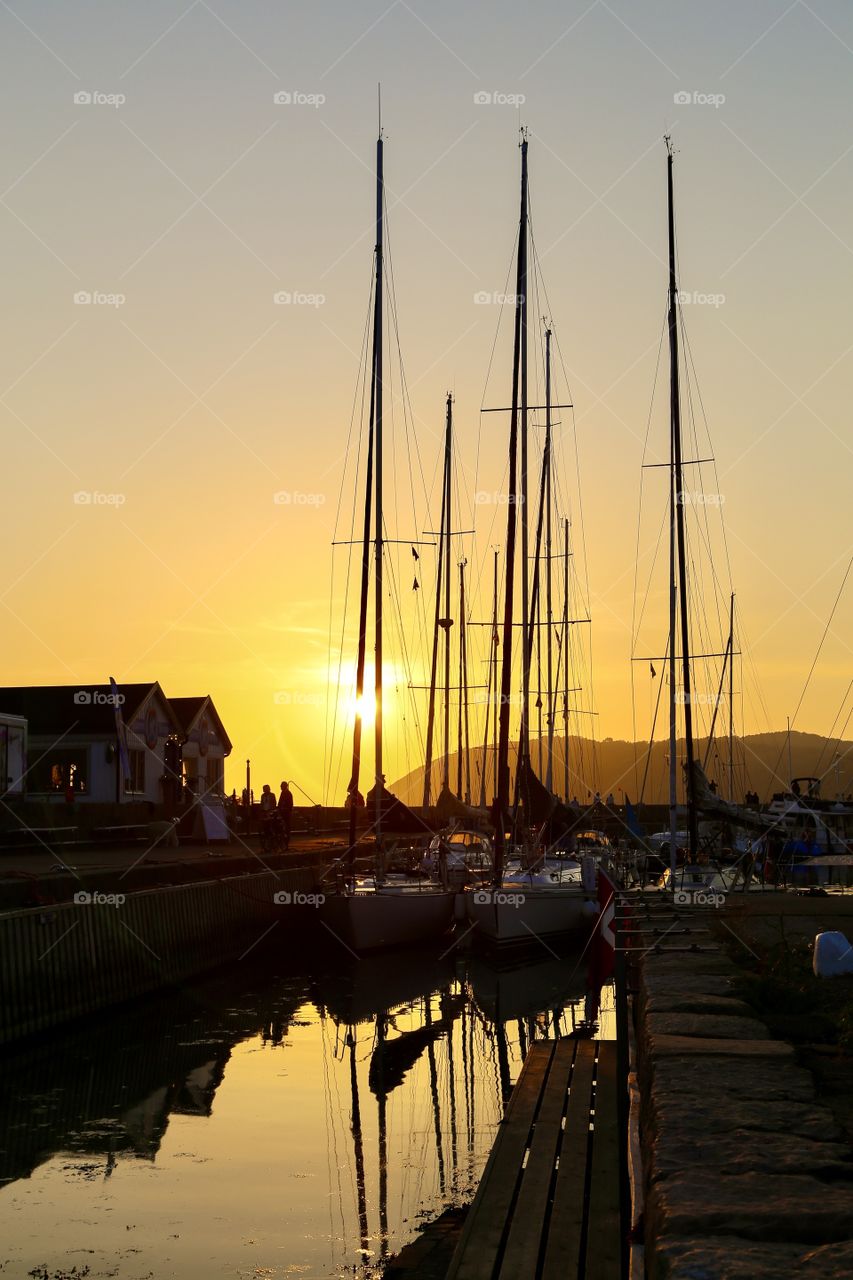
<instances>
[{"instance_id":1,"label":"hazy distant hillside behind the masts on the horizon","mask_svg":"<svg viewBox=\"0 0 853 1280\"><path fill-rule=\"evenodd\" d=\"M542 745L544 762L544 742ZM707 739L697 744L698 759L704 759ZM510 753L515 759L516 744ZM838 753L838 762L836 762ZM648 759L647 759L648 755ZM532 745L533 767L539 772L539 744ZM679 740L679 760L684 759L684 740ZM790 777L818 776L824 778L822 795L853 792L853 742L827 740L817 733L790 735ZM471 797L479 799L483 749L471 751ZM456 754L451 756L451 788L456 790ZM708 760L708 777L716 781L721 795L729 794L727 741L715 742ZM611 791L617 803L624 795L647 804L666 804L669 799L669 742L654 742L651 753L647 742L625 742L607 737L603 742L589 739L569 740L569 791L585 801L596 791L607 796ZM790 781L788 768L788 735L751 733L735 740L734 794L743 800L745 791L757 791L761 800L770 800L775 791L785 788ZM544 781L544 771L542 772ZM487 800L493 795L493 758L489 749L487 764ZM439 765L433 764L433 799L441 788ZM391 790L406 804L420 804L424 795L424 771L415 769L392 783ZM553 790L565 790L564 739L555 739Z\"/></svg>"}]
</instances>

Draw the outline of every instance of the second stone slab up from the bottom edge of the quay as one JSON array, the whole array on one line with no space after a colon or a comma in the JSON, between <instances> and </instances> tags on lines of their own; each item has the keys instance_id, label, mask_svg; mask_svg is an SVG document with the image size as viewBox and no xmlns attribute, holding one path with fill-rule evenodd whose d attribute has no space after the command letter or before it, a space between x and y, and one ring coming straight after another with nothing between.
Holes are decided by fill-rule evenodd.
<instances>
[{"instance_id":1,"label":"second stone slab up from the bottom edge of the quay","mask_svg":"<svg viewBox=\"0 0 853 1280\"><path fill-rule=\"evenodd\" d=\"M647 1213L653 1235L701 1240L740 1235L749 1240L827 1244L849 1239L853 1185L816 1178L765 1174L726 1176L690 1169L653 1183Z\"/></svg>"}]
</instances>

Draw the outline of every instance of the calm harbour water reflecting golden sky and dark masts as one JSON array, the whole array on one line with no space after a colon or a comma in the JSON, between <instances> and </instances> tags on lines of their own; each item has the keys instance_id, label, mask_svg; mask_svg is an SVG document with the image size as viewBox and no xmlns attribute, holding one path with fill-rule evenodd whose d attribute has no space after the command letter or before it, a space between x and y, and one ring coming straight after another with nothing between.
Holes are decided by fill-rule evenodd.
<instances>
[{"instance_id":1,"label":"calm harbour water reflecting golden sky and dark masts","mask_svg":"<svg viewBox=\"0 0 853 1280\"><path fill-rule=\"evenodd\" d=\"M0 1059L0 1276L373 1276L470 1199L528 1043L583 1014L576 957L252 956Z\"/></svg>"}]
</instances>

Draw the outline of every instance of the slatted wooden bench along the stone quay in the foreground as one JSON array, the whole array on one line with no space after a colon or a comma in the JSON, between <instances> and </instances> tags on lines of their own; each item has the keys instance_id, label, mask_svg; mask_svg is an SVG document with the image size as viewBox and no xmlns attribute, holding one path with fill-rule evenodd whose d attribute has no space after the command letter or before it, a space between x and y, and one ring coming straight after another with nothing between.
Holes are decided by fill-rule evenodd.
<instances>
[{"instance_id":1,"label":"slatted wooden bench along the stone quay in the foreground","mask_svg":"<svg viewBox=\"0 0 853 1280\"><path fill-rule=\"evenodd\" d=\"M537 1041L447 1280L620 1280L616 1044Z\"/></svg>"}]
</instances>

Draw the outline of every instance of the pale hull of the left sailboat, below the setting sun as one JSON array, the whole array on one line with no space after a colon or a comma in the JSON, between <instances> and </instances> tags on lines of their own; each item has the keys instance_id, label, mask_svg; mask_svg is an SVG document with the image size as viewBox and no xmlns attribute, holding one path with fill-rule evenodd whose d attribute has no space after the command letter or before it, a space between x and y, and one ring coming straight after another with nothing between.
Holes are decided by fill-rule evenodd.
<instances>
[{"instance_id":1,"label":"pale hull of the left sailboat, below the setting sun","mask_svg":"<svg viewBox=\"0 0 853 1280\"><path fill-rule=\"evenodd\" d=\"M453 923L452 892L357 888L327 897L320 919L351 951L379 951L438 938Z\"/></svg>"}]
</instances>

